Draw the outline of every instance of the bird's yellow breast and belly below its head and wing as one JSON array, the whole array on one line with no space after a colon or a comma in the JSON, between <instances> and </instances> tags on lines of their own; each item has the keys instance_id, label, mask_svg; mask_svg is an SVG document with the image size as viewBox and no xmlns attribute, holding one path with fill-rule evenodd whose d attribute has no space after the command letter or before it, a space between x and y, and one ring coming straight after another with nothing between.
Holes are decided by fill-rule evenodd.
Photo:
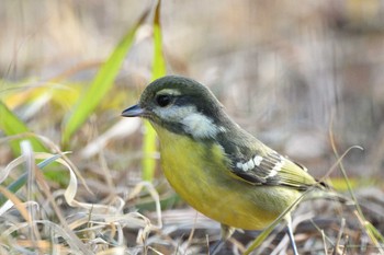
<instances>
[{"instance_id":1,"label":"bird's yellow breast and belly below its head and wing","mask_svg":"<svg viewBox=\"0 0 384 255\"><path fill-rule=\"evenodd\" d=\"M154 125L160 138L163 173L174 190L203 215L230 227L260 230L289 207L300 193L255 186L236 178L221 146L195 142Z\"/></svg>"}]
</instances>

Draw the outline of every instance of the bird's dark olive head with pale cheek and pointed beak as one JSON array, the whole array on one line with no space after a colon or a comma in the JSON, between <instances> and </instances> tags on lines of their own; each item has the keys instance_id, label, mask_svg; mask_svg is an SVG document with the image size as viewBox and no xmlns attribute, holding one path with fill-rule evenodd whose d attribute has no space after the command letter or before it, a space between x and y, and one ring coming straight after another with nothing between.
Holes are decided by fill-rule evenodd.
<instances>
[{"instance_id":1,"label":"bird's dark olive head with pale cheek and pointed beak","mask_svg":"<svg viewBox=\"0 0 384 255\"><path fill-rule=\"evenodd\" d=\"M160 78L143 92L124 117L144 117L169 131L194 139L214 139L226 131L228 118L214 94L199 82L177 76Z\"/></svg>"}]
</instances>

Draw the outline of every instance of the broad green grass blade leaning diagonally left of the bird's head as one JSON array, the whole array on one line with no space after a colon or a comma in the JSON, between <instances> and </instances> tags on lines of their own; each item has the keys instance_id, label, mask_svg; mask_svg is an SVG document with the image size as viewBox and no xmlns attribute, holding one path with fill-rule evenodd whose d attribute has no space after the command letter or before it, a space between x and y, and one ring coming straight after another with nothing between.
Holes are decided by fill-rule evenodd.
<instances>
[{"instance_id":1,"label":"broad green grass blade leaning diagonally left of the bird's head","mask_svg":"<svg viewBox=\"0 0 384 255\"><path fill-rule=\"evenodd\" d=\"M106 62L101 66L89 89L84 91L82 96L80 96L65 124L63 134L64 144L68 144L74 132L87 120L103 96L111 89L124 58L134 42L136 31L143 24L147 15L148 11L146 11L135 26L124 35Z\"/></svg>"}]
</instances>

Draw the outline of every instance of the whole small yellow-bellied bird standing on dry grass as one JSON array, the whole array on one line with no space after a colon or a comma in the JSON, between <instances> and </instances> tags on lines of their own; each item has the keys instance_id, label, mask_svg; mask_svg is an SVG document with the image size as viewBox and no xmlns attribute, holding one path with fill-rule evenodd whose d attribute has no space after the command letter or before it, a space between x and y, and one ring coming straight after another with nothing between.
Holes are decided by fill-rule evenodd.
<instances>
[{"instance_id":1,"label":"whole small yellow-bellied bird standing on dry grass","mask_svg":"<svg viewBox=\"0 0 384 255\"><path fill-rule=\"evenodd\" d=\"M189 205L221 222L222 241L234 228L262 230L307 189L325 189L303 165L241 129L192 79L154 81L122 116L150 121L168 182ZM290 213L284 219L297 254Z\"/></svg>"}]
</instances>

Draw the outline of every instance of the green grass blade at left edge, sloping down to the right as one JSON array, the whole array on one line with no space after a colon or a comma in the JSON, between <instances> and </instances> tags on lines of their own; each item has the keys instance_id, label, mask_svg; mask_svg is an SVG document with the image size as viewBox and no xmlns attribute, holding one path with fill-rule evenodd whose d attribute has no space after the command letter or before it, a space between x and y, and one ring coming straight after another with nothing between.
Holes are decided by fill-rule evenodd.
<instances>
[{"instance_id":1,"label":"green grass blade at left edge, sloping down to the right","mask_svg":"<svg viewBox=\"0 0 384 255\"><path fill-rule=\"evenodd\" d=\"M31 132L27 128L27 126L15 115L10 111L7 105L3 104L3 102L0 101L0 129L3 130L4 135L7 136L15 136L21 134L27 134ZM11 149L15 155L19 155L21 153L20 151L20 142L21 140L29 140L32 144L32 148L34 151L48 151L42 142L39 142L34 137L22 137L22 138L15 138L10 141Z\"/></svg>"}]
</instances>

